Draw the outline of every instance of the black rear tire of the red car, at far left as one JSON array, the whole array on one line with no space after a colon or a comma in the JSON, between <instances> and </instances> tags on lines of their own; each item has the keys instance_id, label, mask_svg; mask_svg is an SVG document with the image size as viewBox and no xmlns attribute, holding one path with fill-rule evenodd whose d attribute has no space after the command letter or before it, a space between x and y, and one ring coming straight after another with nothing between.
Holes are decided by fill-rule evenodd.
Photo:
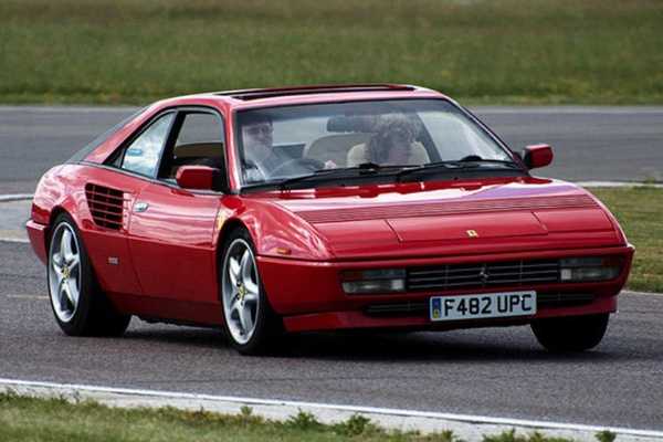
<instances>
[{"instance_id":1,"label":"black rear tire of the red car, at far left","mask_svg":"<svg viewBox=\"0 0 663 442\"><path fill-rule=\"evenodd\" d=\"M71 242L72 250L78 256L77 270L75 270L75 282L78 287L77 302L74 304L69 302L63 307L61 296L54 293L53 281L57 281L57 272L55 271L54 261L59 245L62 246L62 234L64 231L71 232L73 239ZM62 233L61 233L62 232ZM60 244L57 242L60 241ZM63 257L62 250L60 260ZM130 315L124 315L117 312L104 292L94 275L94 269L87 255L83 238L76 227L74 220L66 213L57 215L52 224L51 235L49 239L49 255L46 264L46 281L49 286L49 297L51 299L51 308L55 320L60 328L69 336L120 336L129 326ZM72 266L72 269L76 269ZM62 267L60 267L62 270ZM74 270L71 271L74 275ZM70 270L66 270L66 278L70 278ZM59 285L59 284L56 284ZM56 305L59 303L59 305ZM63 312L65 311L66 312Z\"/></svg>"}]
</instances>

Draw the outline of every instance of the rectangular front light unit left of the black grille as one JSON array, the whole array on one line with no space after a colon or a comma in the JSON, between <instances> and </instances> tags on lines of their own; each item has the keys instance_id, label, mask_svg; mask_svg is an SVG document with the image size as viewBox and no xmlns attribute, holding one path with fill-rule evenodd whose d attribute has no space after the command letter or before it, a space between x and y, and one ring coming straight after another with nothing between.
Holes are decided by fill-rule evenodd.
<instances>
[{"instance_id":1,"label":"rectangular front light unit left of the black grille","mask_svg":"<svg viewBox=\"0 0 663 442\"><path fill-rule=\"evenodd\" d=\"M340 278L343 290L347 294L406 291L404 269L345 271Z\"/></svg>"}]
</instances>

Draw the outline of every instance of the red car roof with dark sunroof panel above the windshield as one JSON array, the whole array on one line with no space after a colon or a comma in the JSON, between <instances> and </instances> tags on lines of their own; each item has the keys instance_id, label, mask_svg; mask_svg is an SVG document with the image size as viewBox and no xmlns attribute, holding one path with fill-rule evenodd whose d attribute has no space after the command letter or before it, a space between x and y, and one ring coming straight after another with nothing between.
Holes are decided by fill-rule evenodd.
<instances>
[{"instance_id":1,"label":"red car roof with dark sunroof panel above the windshield","mask_svg":"<svg viewBox=\"0 0 663 442\"><path fill-rule=\"evenodd\" d=\"M209 92L175 97L166 102L175 102L182 98L204 98L206 101L221 102L231 108L244 108L337 101L408 98L415 96L445 97L436 91L409 84L350 83Z\"/></svg>"}]
</instances>

